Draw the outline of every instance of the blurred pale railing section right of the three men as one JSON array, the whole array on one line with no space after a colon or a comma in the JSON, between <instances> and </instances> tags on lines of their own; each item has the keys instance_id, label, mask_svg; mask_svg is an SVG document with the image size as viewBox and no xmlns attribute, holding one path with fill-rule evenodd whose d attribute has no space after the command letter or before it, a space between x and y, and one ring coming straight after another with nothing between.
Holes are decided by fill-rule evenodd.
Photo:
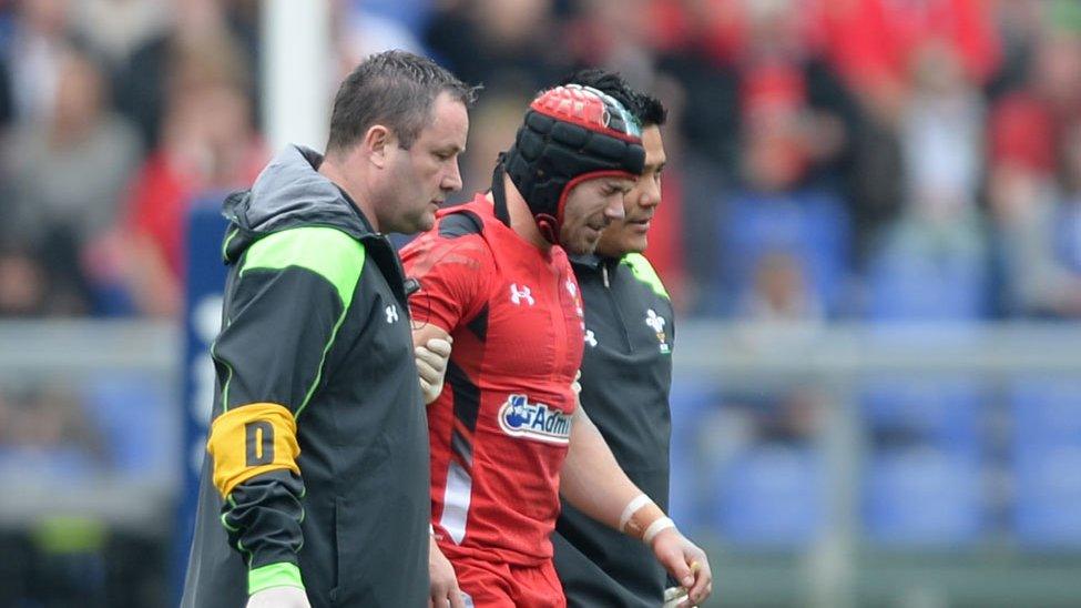
<instances>
[{"instance_id":1,"label":"blurred pale railing section right of the three men","mask_svg":"<svg viewBox=\"0 0 1081 608\"><path fill-rule=\"evenodd\" d=\"M827 478L824 534L802 555L747 554L721 537L715 559L723 581L717 587L728 600L724 605L1081 601L1077 554L1033 557L995 537L976 548L931 551L930 557L868 546L859 529L867 437L855 394L863 381L883 375L963 375L989 386L1023 374L1081 377L1081 324L777 327L684 322L677 327L674 356L676 383L704 381L741 391L757 387L765 394L796 381L814 385L826 406L816 442ZM680 415L680 404L673 403L673 418Z\"/></svg>"}]
</instances>

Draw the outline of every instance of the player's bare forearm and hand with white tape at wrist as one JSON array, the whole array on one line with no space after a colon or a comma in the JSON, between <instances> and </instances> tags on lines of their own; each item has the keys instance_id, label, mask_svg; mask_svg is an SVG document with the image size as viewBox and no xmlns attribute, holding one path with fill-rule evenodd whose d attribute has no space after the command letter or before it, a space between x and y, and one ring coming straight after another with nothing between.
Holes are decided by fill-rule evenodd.
<instances>
[{"instance_id":1,"label":"player's bare forearm and hand with white tape at wrist","mask_svg":"<svg viewBox=\"0 0 1081 608\"><path fill-rule=\"evenodd\" d=\"M560 494L593 519L644 541L689 590L692 604L710 597L713 575L705 553L680 534L675 524L623 473L581 406L574 411L570 448L560 473Z\"/></svg>"}]
</instances>

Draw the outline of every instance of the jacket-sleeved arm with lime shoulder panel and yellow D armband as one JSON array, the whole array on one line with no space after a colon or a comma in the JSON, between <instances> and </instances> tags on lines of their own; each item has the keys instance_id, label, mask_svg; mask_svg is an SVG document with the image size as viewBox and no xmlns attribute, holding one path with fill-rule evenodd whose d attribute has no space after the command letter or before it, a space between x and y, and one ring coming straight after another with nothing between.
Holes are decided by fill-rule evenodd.
<instances>
[{"instance_id":1,"label":"jacket-sleeved arm with lime shoulder panel and yellow D armband","mask_svg":"<svg viewBox=\"0 0 1081 608\"><path fill-rule=\"evenodd\" d=\"M364 260L363 245L345 233L293 229L254 243L233 280L211 351L221 413L207 450L222 524L248 566L251 595L303 589L297 425L325 375Z\"/></svg>"}]
</instances>

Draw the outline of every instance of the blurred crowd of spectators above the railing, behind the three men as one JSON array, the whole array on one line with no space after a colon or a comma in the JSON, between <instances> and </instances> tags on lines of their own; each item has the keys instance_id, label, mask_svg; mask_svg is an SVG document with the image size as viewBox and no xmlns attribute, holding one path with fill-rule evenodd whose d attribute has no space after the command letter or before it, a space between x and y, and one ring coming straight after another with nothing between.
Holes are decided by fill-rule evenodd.
<instances>
[{"instance_id":1,"label":"blurred crowd of spectators above the railing, behind the three men","mask_svg":"<svg viewBox=\"0 0 1081 608\"><path fill-rule=\"evenodd\" d=\"M659 95L671 162L649 255L685 314L1081 315L1074 0L332 4L335 82L398 47L485 85L457 200L568 71ZM259 11L0 0L0 315L177 313L187 206L274 152Z\"/></svg>"}]
</instances>

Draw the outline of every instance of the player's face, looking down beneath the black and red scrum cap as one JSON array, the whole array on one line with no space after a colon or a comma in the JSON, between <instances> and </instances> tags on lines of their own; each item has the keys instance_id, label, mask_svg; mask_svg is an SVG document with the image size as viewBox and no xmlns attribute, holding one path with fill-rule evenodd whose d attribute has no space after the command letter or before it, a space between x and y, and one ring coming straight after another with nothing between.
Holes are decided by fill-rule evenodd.
<instances>
[{"instance_id":1,"label":"player's face, looking down beneath the black and red scrum cap","mask_svg":"<svg viewBox=\"0 0 1081 608\"><path fill-rule=\"evenodd\" d=\"M604 227L623 219L623 196L634 182L599 178L575 185L563 204L559 240L572 254L593 253Z\"/></svg>"}]
</instances>

